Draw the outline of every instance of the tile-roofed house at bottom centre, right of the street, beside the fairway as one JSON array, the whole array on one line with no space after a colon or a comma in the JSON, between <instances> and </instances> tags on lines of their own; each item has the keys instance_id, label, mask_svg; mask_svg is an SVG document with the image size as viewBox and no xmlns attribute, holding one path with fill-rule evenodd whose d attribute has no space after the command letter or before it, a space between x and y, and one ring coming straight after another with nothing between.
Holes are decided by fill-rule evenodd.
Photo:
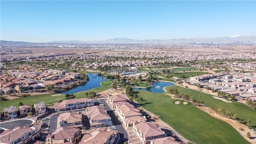
<instances>
[{"instance_id":1,"label":"tile-roofed house at bottom centre, right of the street, beside the fairway","mask_svg":"<svg viewBox=\"0 0 256 144\"><path fill-rule=\"evenodd\" d=\"M140 122L134 124L132 132L140 139L143 144L150 144L150 140L166 137L166 133L156 126L154 122Z\"/></svg>"}]
</instances>

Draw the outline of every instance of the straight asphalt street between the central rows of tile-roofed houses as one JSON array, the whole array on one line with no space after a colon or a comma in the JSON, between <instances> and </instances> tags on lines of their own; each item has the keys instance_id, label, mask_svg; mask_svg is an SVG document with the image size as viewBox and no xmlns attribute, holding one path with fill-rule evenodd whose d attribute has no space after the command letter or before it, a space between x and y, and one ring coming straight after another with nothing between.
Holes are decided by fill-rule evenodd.
<instances>
[{"instance_id":1,"label":"straight asphalt street between the central rows of tile-roofed houses","mask_svg":"<svg viewBox=\"0 0 256 144\"><path fill-rule=\"evenodd\" d=\"M97 100L94 100L97 102ZM120 123L120 121L118 120L118 118L116 117L116 115L114 114L113 110L110 108L110 106L108 105L108 103L106 102L106 100L104 99L98 99L98 102L100 102L101 104L105 105L105 110L107 110L108 115L111 117L112 119L112 123L114 124L114 126L116 127L116 130L118 131L118 133L120 134L120 140L118 143L124 143L125 141L128 140L129 136L126 132L126 130L124 129L124 127L122 126L122 124Z\"/></svg>"}]
</instances>

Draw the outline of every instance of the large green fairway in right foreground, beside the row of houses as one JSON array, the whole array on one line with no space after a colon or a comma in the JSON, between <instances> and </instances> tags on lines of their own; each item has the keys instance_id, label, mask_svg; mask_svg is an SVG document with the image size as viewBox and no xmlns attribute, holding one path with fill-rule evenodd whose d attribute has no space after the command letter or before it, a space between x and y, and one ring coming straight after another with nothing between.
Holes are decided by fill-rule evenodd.
<instances>
[{"instance_id":1,"label":"large green fairway in right foreground, beside the row of houses","mask_svg":"<svg viewBox=\"0 0 256 144\"><path fill-rule=\"evenodd\" d=\"M172 126L179 134L196 144L249 144L232 126L199 110L190 102L184 105L174 104L175 99L164 93L151 93L142 90L138 97L142 108L160 115L160 118Z\"/></svg>"}]
</instances>

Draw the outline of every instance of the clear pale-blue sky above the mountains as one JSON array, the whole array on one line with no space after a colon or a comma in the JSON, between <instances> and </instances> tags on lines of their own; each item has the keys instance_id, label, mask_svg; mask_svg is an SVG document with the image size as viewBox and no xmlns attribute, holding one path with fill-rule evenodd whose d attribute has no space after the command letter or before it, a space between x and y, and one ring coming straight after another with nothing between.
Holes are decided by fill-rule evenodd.
<instances>
[{"instance_id":1,"label":"clear pale-blue sky above the mountains","mask_svg":"<svg viewBox=\"0 0 256 144\"><path fill-rule=\"evenodd\" d=\"M0 39L24 42L256 35L256 1L0 1Z\"/></svg>"}]
</instances>

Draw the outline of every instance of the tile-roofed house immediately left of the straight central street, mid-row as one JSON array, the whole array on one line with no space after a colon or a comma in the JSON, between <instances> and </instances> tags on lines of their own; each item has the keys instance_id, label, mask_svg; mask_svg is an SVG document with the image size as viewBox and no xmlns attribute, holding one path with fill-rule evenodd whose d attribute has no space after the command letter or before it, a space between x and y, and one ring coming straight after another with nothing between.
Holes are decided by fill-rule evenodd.
<instances>
[{"instance_id":1,"label":"tile-roofed house immediately left of the straight central street, mid-row","mask_svg":"<svg viewBox=\"0 0 256 144\"><path fill-rule=\"evenodd\" d=\"M104 106L91 106L86 109L86 114L92 127L112 126L111 117L108 115Z\"/></svg>"}]
</instances>

